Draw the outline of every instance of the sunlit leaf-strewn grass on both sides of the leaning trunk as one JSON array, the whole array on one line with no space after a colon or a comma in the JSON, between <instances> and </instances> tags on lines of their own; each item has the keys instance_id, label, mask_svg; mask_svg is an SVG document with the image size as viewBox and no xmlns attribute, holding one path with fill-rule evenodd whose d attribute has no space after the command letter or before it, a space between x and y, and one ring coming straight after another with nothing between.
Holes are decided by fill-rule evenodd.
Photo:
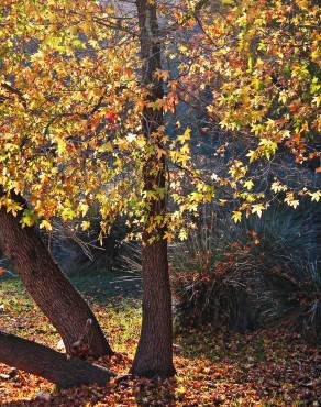
<instances>
[{"instance_id":1,"label":"sunlit leaf-strewn grass on both sides of the leaning trunk","mask_svg":"<svg viewBox=\"0 0 321 407\"><path fill-rule=\"evenodd\" d=\"M141 284L131 274L106 272L71 276L71 283L92 307L101 327L111 337L118 333L114 348L123 352L128 342L136 338L141 323ZM34 305L18 277L0 277L0 304L4 306L3 328L23 338L34 337L37 342L55 344L56 330ZM41 319L38 318L41 316ZM0 321L0 328L2 328ZM113 340L111 339L111 343Z\"/></svg>"}]
</instances>

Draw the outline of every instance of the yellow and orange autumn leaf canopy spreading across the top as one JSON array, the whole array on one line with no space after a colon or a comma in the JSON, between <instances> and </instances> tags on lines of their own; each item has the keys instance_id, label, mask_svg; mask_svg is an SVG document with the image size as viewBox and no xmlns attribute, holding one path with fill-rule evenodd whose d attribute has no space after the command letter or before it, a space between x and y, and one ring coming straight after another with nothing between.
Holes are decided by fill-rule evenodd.
<instances>
[{"instance_id":1,"label":"yellow and orange autumn leaf canopy spreading across the top","mask_svg":"<svg viewBox=\"0 0 321 407\"><path fill-rule=\"evenodd\" d=\"M107 220L104 231L117 215L141 223L147 196L165 194L152 188L142 195L142 166L156 148L169 163L173 210L154 222L168 226L169 239L177 231L184 239L186 212L213 200L217 188L241 199L235 221L244 210L261 215L266 202L252 191L252 162L270 161L283 146L297 163L319 154L307 147L320 131L313 1L178 2L174 13L159 4L162 50L177 68L157 72L168 91L150 105L175 117L180 101L202 99L209 89L203 102L209 120L254 140L248 161L231 162L217 180L192 162L189 127L179 123L173 138L165 123L155 145L142 135L148 89L139 78L133 11L122 18L118 8L96 1L78 1L77 9L67 1L12 1L1 8L1 185L29 194L32 209L23 224L41 219L49 230L51 218L59 216L84 218L87 229L93 202ZM187 178L190 187L181 194ZM318 190L294 191L277 179L272 190L284 191L294 207L298 196L320 199ZM19 210L10 197L1 200L13 213Z\"/></svg>"}]
</instances>

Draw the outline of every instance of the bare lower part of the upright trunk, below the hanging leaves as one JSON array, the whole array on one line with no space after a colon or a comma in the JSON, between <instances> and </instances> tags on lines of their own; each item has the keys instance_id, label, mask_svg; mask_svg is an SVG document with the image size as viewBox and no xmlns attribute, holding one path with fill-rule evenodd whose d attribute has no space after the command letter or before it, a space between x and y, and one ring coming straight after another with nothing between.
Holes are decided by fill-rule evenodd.
<instances>
[{"instance_id":1,"label":"bare lower part of the upright trunk, below the hanging leaves","mask_svg":"<svg viewBox=\"0 0 321 407\"><path fill-rule=\"evenodd\" d=\"M166 241L143 249L143 322L132 373L170 377L175 369Z\"/></svg>"}]
</instances>

